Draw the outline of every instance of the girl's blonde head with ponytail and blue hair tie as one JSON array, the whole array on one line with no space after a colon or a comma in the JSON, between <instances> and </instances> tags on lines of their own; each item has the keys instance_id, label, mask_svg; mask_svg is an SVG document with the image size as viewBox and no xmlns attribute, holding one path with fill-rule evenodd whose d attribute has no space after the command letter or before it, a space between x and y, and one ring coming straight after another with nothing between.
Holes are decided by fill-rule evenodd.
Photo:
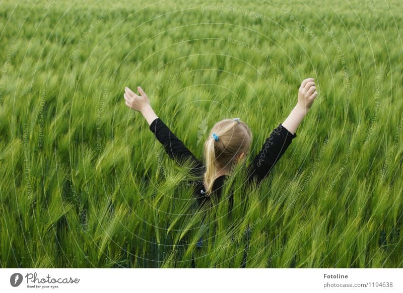
<instances>
[{"instance_id":1,"label":"girl's blonde head with ponytail and blue hair tie","mask_svg":"<svg viewBox=\"0 0 403 293\"><path fill-rule=\"evenodd\" d=\"M239 118L224 119L213 126L204 144L206 192L212 191L217 172L230 172L249 153L251 142L252 132Z\"/></svg>"}]
</instances>

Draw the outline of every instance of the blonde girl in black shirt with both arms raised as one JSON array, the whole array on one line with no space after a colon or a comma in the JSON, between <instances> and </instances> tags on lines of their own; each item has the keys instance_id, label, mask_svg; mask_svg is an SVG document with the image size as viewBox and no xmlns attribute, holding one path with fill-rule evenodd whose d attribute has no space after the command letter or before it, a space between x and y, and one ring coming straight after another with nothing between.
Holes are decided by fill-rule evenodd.
<instances>
[{"instance_id":1,"label":"blonde girl in black shirt with both arms raised","mask_svg":"<svg viewBox=\"0 0 403 293\"><path fill-rule=\"evenodd\" d=\"M164 145L164 149L171 159L177 162L191 161L194 163L191 173L204 178L203 181L194 185L194 193L199 204L210 201L213 194L219 198L225 179L231 175L236 164L244 161L249 154L252 141L249 127L239 118L224 119L216 123L204 144L203 164L157 117L143 89L138 87L137 90L140 96L129 88L125 88L126 106L143 114L150 125L150 130ZM297 136L295 131L311 108L317 94L314 79L306 79L301 83L296 106L287 119L273 130L260 152L248 166L248 180L256 180L259 183L272 170L292 139ZM230 203L232 200L230 199Z\"/></svg>"}]
</instances>

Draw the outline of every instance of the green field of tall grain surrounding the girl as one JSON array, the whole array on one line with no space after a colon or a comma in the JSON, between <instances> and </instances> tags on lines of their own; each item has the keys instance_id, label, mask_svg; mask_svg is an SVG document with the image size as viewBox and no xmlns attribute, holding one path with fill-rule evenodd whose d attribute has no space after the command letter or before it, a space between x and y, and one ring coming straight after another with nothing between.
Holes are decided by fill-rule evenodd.
<instances>
[{"instance_id":1,"label":"green field of tall grain surrounding the girl","mask_svg":"<svg viewBox=\"0 0 403 293\"><path fill-rule=\"evenodd\" d=\"M402 268L402 11L3 0L0 266ZM240 117L251 160L308 77L319 96L297 137L247 197L235 178L231 213L196 210L187 169L123 99L141 86L200 159Z\"/></svg>"}]
</instances>

